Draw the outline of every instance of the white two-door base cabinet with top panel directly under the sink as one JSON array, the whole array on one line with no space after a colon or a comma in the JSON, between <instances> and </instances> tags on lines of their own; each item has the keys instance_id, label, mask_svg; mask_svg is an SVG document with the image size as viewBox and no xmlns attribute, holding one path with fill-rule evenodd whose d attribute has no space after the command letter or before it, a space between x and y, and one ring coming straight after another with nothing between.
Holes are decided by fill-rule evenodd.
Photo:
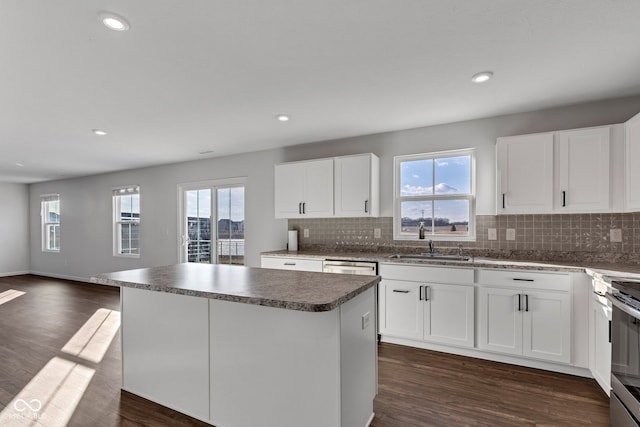
<instances>
[{"instance_id":1,"label":"white two-door base cabinet with top panel directly under the sink","mask_svg":"<svg viewBox=\"0 0 640 427\"><path fill-rule=\"evenodd\" d=\"M398 270L400 269L400 270ZM438 283L462 272L469 284ZM385 275L385 273L387 275ZM391 277L414 280L387 279ZM397 273L397 274L393 274ZM439 344L473 347L473 271L406 266L380 267L380 334ZM467 282L464 278L463 282Z\"/></svg>"}]
</instances>

